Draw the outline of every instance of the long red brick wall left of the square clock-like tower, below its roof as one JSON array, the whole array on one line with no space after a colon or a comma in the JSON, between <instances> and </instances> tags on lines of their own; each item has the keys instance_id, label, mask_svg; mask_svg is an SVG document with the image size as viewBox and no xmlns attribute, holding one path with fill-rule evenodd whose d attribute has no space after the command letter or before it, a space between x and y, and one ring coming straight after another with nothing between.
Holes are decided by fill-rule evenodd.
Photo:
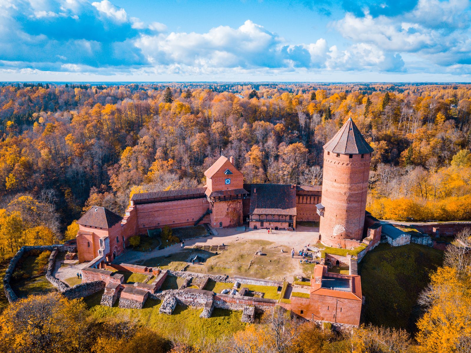
<instances>
[{"instance_id":1,"label":"long red brick wall left of the square clock-like tower, below its roof","mask_svg":"<svg viewBox=\"0 0 471 353\"><path fill-rule=\"evenodd\" d=\"M194 198L179 201L158 202L153 204L136 205L139 234L147 229L170 227L184 227L195 224L208 208L210 203L206 198ZM208 223L209 216L201 223Z\"/></svg>"}]
</instances>

